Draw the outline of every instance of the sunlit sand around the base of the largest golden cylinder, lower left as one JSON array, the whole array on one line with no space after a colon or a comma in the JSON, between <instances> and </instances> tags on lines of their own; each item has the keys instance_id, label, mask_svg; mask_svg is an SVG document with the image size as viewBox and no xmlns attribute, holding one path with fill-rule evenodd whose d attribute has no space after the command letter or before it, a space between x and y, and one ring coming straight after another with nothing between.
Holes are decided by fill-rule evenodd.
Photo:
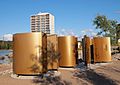
<instances>
[{"instance_id":1,"label":"sunlit sand around the base of the largest golden cylinder, lower left","mask_svg":"<svg viewBox=\"0 0 120 85\"><path fill-rule=\"evenodd\" d=\"M11 77L12 64L0 65L0 85L36 85L31 79L15 79Z\"/></svg>"}]
</instances>

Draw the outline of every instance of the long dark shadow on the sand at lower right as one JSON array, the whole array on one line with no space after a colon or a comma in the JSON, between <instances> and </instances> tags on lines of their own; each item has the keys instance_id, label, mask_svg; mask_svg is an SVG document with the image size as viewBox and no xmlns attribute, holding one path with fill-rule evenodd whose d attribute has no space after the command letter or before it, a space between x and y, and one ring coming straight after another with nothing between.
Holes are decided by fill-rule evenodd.
<instances>
[{"instance_id":1,"label":"long dark shadow on the sand at lower right","mask_svg":"<svg viewBox=\"0 0 120 85\"><path fill-rule=\"evenodd\" d=\"M105 77L104 74L98 74L92 69L76 73L74 76L86 80L93 85L117 85L112 79Z\"/></svg>"}]
</instances>

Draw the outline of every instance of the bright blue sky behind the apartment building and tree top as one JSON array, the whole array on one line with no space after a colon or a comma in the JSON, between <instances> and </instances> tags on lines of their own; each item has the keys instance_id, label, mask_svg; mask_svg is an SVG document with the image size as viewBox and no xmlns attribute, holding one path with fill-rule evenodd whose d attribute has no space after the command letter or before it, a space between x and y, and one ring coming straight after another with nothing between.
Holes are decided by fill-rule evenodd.
<instances>
[{"instance_id":1,"label":"bright blue sky behind the apartment building and tree top","mask_svg":"<svg viewBox=\"0 0 120 85\"><path fill-rule=\"evenodd\" d=\"M97 14L120 22L120 0L0 0L0 36L30 32L30 16L49 12L55 16L55 30L82 34L92 29Z\"/></svg>"}]
</instances>

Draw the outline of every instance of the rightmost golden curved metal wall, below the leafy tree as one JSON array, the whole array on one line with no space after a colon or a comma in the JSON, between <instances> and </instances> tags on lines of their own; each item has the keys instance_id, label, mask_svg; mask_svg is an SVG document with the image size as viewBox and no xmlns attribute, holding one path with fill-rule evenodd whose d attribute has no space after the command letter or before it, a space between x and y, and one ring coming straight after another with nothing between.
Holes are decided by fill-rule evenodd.
<instances>
[{"instance_id":1,"label":"rightmost golden curved metal wall, below the leafy tree","mask_svg":"<svg viewBox=\"0 0 120 85\"><path fill-rule=\"evenodd\" d=\"M94 62L111 61L111 45L109 37L94 37Z\"/></svg>"}]
</instances>

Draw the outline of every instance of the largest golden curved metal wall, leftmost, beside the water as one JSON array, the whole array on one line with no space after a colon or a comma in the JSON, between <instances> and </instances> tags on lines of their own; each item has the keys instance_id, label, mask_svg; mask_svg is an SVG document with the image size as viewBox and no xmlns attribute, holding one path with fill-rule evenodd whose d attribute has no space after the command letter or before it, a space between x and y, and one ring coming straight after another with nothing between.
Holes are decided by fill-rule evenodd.
<instances>
[{"instance_id":1,"label":"largest golden curved metal wall, leftmost, beside the water","mask_svg":"<svg viewBox=\"0 0 120 85\"><path fill-rule=\"evenodd\" d=\"M44 45L43 45L44 43ZM41 47L46 48L47 36L40 33L20 33L13 35L13 72L15 74L38 74L32 66L40 59ZM42 51L41 51L42 52ZM37 60L34 60L34 58ZM42 72L42 65L39 70Z\"/></svg>"}]
</instances>

